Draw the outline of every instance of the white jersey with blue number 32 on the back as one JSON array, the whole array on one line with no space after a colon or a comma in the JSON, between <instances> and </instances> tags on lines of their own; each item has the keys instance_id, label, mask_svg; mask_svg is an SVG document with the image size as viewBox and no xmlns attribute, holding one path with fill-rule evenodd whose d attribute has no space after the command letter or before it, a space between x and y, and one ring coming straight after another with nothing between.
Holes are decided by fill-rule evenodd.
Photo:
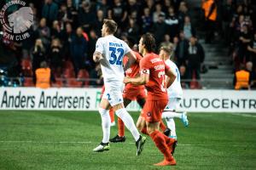
<instances>
[{"instance_id":1,"label":"white jersey with blue number 32 on the back","mask_svg":"<svg viewBox=\"0 0 256 170\"><path fill-rule=\"evenodd\" d=\"M96 42L96 52L103 56L101 66L104 82L123 81L123 58L125 54L131 52L127 43L113 35L101 37Z\"/></svg>"}]
</instances>

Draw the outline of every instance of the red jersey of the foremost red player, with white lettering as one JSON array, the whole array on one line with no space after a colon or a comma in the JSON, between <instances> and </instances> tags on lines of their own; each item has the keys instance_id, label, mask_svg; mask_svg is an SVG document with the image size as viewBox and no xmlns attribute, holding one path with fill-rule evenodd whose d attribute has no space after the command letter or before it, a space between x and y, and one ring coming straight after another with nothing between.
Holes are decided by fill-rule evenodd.
<instances>
[{"instance_id":1,"label":"red jersey of the foremost red player, with white lettering","mask_svg":"<svg viewBox=\"0 0 256 170\"><path fill-rule=\"evenodd\" d=\"M168 99L166 90L166 71L170 67L157 54L146 54L140 62L141 74L149 74L149 81L145 84L148 100Z\"/></svg>"}]
</instances>

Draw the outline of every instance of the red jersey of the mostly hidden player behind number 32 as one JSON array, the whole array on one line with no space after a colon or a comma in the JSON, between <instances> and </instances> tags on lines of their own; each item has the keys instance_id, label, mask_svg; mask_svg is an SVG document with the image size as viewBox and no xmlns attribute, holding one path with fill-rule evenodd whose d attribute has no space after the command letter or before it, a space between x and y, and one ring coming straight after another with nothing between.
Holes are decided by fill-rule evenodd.
<instances>
[{"instance_id":1,"label":"red jersey of the mostly hidden player behind number 32","mask_svg":"<svg viewBox=\"0 0 256 170\"><path fill-rule=\"evenodd\" d=\"M141 61L141 59L143 59L143 56L142 56L141 54L137 53L136 51L132 51L132 53L135 54L135 56L136 56L136 61L135 61L135 63L133 63L133 64L131 65L131 67L130 67L129 69L127 69L127 70L125 71L125 74L126 74L127 77L134 78L134 77L139 76L139 72L140 72L140 61ZM123 60L124 65L126 65L127 61L128 61L128 57L125 56L125 57L124 57L124 60ZM125 88L131 88L131 87L134 87L134 88L142 88L143 85L133 85L133 84L129 83L129 84L126 84L126 86L125 86Z\"/></svg>"}]
</instances>

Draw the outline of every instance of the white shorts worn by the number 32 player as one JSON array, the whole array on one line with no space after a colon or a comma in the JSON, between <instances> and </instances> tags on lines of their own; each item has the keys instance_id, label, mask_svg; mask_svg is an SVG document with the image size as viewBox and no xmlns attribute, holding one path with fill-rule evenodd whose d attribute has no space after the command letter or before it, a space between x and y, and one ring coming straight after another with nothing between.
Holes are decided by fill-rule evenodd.
<instances>
[{"instance_id":1,"label":"white shorts worn by the number 32 player","mask_svg":"<svg viewBox=\"0 0 256 170\"><path fill-rule=\"evenodd\" d=\"M108 99L111 106L124 103L123 90L125 88L125 84L123 82L105 82L104 85L105 92L102 95L102 99Z\"/></svg>"}]
</instances>

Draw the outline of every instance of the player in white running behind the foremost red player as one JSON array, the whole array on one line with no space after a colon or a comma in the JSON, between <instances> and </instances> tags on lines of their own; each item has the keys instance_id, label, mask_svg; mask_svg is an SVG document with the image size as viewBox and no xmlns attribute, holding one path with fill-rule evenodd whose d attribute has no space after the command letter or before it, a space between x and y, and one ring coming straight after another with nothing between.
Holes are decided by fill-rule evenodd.
<instances>
[{"instance_id":1,"label":"player in white running behind the foremost red player","mask_svg":"<svg viewBox=\"0 0 256 170\"><path fill-rule=\"evenodd\" d=\"M183 89L180 84L180 74L174 62L170 59L170 55L172 53L172 49L162 47L160 48L160 58L166 62L172 71L176 74L176 79L172 83L172 85L167 88L167 94L169 98L169 102L166 105L166 109L162 113L162 118L166 119L167 127L170 128L171 133L169 134L170 138L177 139L175 122L173 120L174 117L181 119L183 125L185 127L189 126L188 117L186 112L177 112L177 109L180 106L180 103L183 99ZM166 134L166 133L165 133Z\"/></svg>"}]
</instances>

